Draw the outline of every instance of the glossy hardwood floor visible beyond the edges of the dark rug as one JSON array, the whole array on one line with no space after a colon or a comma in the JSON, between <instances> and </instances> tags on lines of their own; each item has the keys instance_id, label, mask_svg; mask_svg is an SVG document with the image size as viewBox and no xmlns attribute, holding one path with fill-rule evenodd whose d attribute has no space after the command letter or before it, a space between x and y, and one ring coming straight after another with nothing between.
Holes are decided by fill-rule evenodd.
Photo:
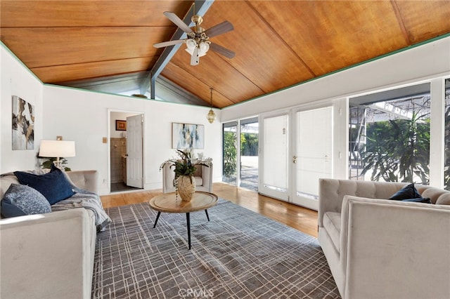
<instances>
[{"instance_id":1,"label":"glossy hardwood floor visible beyond the edges of the dark rug","mask_svg":"<svg viewBox=\"0 0 450 299\"><path fill-rule=\"evenodd\" d=\"M212 192L218 197L229 200L239 206L260 213L267 218L284 223L300 230L312 237L317 237L317 212L308 208L302 208L285 201L265 197L255 191L237 188L224 182L213 184ZM149 201L152 197L161 194L162 190L150 190L141 192L127 192L120 194L103 195L101 201L105 208L137 204Z\"/></svg>"}]
</instances>

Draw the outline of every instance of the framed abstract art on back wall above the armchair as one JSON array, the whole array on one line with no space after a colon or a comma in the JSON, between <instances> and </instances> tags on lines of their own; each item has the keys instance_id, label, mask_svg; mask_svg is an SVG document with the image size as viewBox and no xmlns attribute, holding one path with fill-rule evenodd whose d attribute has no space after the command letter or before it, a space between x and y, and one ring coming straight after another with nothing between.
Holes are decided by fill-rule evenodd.
<instances>
[{"instance_id":1,"label":"framed abstract art on back wall above the armchair","mask_svg":"<svg viewBox=\"0 0 450 299\"><path fill-rule=\"evenodd\" d=\"M173 149L203 149L204 147L205 126L172 123Z\"/></svg>"}]
</instances>

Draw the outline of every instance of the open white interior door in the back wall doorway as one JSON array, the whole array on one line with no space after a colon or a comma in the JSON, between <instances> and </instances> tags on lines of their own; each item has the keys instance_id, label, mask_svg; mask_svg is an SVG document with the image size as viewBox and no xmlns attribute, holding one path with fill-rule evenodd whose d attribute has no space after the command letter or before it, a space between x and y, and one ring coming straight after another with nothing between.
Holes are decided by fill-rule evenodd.
<instances>
[{"instance_id":1,"label":"open white interior door in the back wall doorway","mask_svg":"<svg viewBox=\"0 0 450 299\"><path fill-rule=\"evenodd\" d=\"M143 187L143 114L127 117L127 185Z\"/></svg>"}]
</instances>

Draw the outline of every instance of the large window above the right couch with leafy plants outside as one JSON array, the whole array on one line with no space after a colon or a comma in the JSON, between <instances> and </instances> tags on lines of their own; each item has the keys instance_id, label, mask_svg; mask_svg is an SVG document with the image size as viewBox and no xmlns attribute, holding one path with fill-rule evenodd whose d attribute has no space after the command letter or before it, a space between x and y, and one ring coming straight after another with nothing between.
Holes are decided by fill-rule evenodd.
<instances>
[{"instance_id":1,"label":"large window above the right couch with leafy plants outside","mask_svg":"<svg viewBox=\"0 0 450 299\"><path fill-rule=\"evenodd\" d=\"M349 178L429 184L430 84L350 99Z\"/></svg>"}]
</instances>

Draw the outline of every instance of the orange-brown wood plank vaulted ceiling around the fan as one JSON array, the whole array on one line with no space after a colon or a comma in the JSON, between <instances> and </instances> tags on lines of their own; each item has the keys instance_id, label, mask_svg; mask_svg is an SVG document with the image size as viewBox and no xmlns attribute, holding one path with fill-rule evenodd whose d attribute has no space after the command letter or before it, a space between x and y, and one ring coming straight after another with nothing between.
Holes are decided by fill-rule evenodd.
<instances>
[{"instance_id":1,"label":"orange-brown wood plank vaulted ceiling around the fan","mask_svg":"<svg viewBox=\"0 0 450 299\"><path fill-rule=\"evenodd\" d=\"M0 2L1 41L49 84L152 69L192 1ZM450 1L222 1L205 29L229 20L232 32L190 65L181 45L165 77L214 107L227 107L450 33ZM158 90L156 90L158 95Z\"/></svg>"}]
</instances>

